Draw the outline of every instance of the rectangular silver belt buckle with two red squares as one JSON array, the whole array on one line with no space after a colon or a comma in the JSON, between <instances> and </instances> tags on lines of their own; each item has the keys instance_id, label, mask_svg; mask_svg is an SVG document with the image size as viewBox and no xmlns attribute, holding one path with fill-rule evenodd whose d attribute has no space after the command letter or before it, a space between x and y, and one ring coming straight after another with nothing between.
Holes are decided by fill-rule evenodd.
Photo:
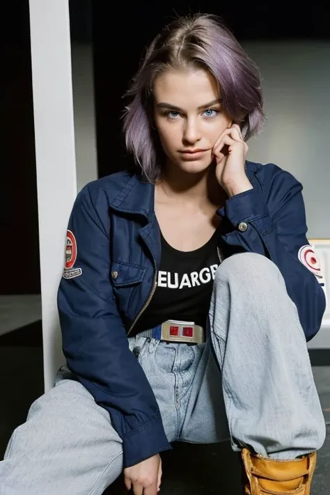
<instances>
[{"instance_id":1,"label":"rectangular silver belt buckle with two red squares","mask_svg":"<svg viewBox=\"0 0 330 495\"><path fill-rule=\"evenodd\" d=\"M161 339L169 342L201 344L205 342L203 327L194 322L167 320L162 324Z\"/></svg>"}]
</instances>

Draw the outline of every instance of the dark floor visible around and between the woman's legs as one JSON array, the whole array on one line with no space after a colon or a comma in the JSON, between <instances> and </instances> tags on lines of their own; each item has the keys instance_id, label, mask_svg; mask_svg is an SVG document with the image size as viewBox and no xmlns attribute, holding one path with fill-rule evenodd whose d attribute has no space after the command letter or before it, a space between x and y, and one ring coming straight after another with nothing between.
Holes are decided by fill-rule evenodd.
<instances>
[{"instance_id":1,"label":"dark floor visible around and between the woman's legs","mask_svg":"<svg viewBox=\"0 0 330 495\"><path fill-rule=\"evenodd\" d=\"M29 405L42 393L41 344L38 322L0 336L0 458L11 432L24 421ZM328 432L319 452L312 494L329 495L330 366L313 366L313 373ZM173 447L173 451L162 455L163 495L242 495L239 459L228 443L207 446L178 443ZM123 480L119 478L104 495L124 493Z\"/></svg>"}]
</instances>

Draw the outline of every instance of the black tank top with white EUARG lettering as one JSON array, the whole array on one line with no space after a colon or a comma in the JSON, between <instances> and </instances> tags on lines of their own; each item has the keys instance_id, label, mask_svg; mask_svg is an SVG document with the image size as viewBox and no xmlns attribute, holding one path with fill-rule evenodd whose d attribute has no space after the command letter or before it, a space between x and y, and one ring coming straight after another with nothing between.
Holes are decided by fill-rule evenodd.
<instances>
[{"instance_id":1,"label":"black tank top with white EUARG lettering","mask_svg":"<svg viewBox=\"0 0 330 495\"><path fill-rule=\"evenodd\" d=\"M162 257L157 289L149 306L136 322L132 335L166 320L194 322L205 328L214 274L219 265L219 230L194 251L174 249L161 234Z\"/></svg>"}]
</instances>

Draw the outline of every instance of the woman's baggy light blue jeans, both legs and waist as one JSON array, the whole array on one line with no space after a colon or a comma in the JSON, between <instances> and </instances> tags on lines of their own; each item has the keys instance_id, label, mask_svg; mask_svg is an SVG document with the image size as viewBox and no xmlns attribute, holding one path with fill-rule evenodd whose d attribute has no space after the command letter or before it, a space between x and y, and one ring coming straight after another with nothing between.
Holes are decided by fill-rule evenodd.
<instances>
[{"instance_id":1,"label":"woman's baggy light blue jeans, both legs and waist","mask_svg":"<svg viewBox=\"0 0 330 495\"><path fill-rule=\"evenodd\" d=\"M169 441L230 439L291 459L324 443L325 424L297 308L278 268L253 253L223 261L205 344L129 338ZM31 406L0 462L0 495L101 495L123 470L120 437L66 368Z\"/></svg>"}]
</instances>

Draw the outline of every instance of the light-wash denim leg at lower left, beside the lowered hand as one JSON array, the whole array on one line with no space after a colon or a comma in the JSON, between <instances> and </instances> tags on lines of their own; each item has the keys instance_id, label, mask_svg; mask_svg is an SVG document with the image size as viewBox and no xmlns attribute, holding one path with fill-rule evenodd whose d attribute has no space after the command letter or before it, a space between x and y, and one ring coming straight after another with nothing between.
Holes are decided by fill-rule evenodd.
<instances>
[{"instance_id":1,"label":"light-wash denim leg at lower left, beside the lowered hand","mask_svg":"<svg viewBox=\"0 0 330 495\"><path fill-rule=\"evenodd\" d=\"M70 377L62 370L13 433L0 462L1 495L101 495L123 470L109 414Z\"/></svg>"}]
</instances>

